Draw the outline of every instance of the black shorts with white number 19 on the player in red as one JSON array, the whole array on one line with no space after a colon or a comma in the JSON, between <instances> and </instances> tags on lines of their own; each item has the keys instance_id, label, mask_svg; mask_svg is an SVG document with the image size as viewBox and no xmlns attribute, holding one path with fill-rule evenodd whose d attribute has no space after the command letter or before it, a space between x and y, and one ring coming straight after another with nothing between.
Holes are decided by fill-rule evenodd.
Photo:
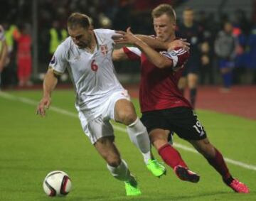
<instances>
[{"instance_id":1,"label":"black shorts with white number 19 on the player in red","mask_svg":"<svg viewBox=\"0 0 256 201\"><path fill-rule=\"evenodd\" d=\"M186 140L201 140L206 138L206 131L198 121L196 114L188 107L161 109L142 114L142 123L148 133L154 129L174 131L180 138Z\"/></svg>"}]
</instances>

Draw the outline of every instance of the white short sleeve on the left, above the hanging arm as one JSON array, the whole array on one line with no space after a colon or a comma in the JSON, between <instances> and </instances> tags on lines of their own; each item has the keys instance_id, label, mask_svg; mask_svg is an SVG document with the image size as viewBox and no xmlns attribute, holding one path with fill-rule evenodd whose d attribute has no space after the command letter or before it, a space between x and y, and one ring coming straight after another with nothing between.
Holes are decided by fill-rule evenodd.
<instances>
[{"instance_id":1,"label":"white short sleeve on the left, above the hanging arm","mask_svg":"<svg viewBox=\"0 0 256 201\"><path fill-rule=\"evenodd\" d=\"M52 67L55 72L58 72L60 74L63 74L65 72L65 69L68 66L68 60L67 52L63 43L58 45L58 48L55 50L55 53L53 55L53 58L50 60L49 66Z\"/></svg>"}]
</instances>

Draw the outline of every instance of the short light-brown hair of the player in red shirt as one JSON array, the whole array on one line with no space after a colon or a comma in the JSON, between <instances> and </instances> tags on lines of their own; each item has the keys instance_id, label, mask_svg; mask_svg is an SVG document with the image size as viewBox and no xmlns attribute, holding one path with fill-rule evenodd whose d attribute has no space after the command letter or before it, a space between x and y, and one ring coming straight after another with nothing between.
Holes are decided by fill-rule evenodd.
<instances>
[{"instance_id":1,"label":"short light-brown hair of the player in red shirt","mask_svg":"<svg viewBox=\"0 0 256 201\"><path fill-rule=\"evenodd\" d=\"M176 21L176 13L173 7L169 4L160 4L159 6L156 6L156 8L154 8L154 10L151 12L152 18L158 18L164 14L169 16L171 20Z\"/></svg>"}]
</instances>

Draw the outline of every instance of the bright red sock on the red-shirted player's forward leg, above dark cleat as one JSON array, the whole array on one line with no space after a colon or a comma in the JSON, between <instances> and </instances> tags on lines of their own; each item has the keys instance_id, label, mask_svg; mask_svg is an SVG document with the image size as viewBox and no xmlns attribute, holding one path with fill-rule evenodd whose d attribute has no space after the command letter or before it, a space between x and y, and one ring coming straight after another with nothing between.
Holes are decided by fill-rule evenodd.
<instances>
[{"instance_id":1,"label":"bright red sock on the red-shirted player's forward leg, above dark cleat","mask_svg":"<svg viewBox=\"0 0 256 201\"><path fill-rule=\"evenodd\" d=\"M181 158L181 155L169 143L159 148L159 155L163 158L164 162L174 169L176 165L181 165L187 168L186 163Z\"/></svg>"}]
</instances>

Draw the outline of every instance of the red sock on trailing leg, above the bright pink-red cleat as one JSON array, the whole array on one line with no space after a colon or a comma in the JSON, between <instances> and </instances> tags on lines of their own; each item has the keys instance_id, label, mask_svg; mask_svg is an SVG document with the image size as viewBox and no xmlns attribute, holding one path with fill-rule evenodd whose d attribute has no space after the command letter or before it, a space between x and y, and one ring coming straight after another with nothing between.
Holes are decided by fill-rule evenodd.
<instances>
[{"instance_id":1,"label":"red sock on trailing leg, above the bright pink-red cleat","mask_svg":"<svg viewBox=\"0 0 256 201\"><path fill-rule=\"evenodd\" d=\"M210 165L212 165L213 168L215 168L215 170L217 170L218 173L220 173L224 180L230 178L231 175L228 170L228 167L223 159L223 156L221 155L217 148L215 148L215 157L206 159L210 163Z\"/></svg>"}]
</instances>

